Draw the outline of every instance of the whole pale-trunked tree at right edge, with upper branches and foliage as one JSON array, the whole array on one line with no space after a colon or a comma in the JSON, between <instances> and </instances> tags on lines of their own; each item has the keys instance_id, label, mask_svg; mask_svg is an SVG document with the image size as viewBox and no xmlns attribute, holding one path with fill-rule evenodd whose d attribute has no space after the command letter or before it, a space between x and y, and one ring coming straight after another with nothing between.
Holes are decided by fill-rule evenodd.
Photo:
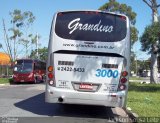
<instances>
[{"instance_id":1,"label":"whole pale-trunked tree at right edge, with upper branches and foliage","mask_svg":"<svg viewBox=\"0 0 160 123\"><path fill-rule=\"evenodd\" d=\"M148 50L151 53L151 83L158 83L158 70L157 70L157 42L158 41L158 34L159 31L159 23L158 22L158 7L160 4L157 4L156 0L143 0L152 10L152 25L146 27L141 39L142 50ZM156 27L157 26L157 27ZM159 29L159 30L157 30ZM152 33L150 32L152 31ZM154 32L156 31L156 32ZM148 34L148 35L147 35ZM147 37L149 39L147 39ZM144 45L144 46L143 46Z\"/></svg>"}]
</instances>

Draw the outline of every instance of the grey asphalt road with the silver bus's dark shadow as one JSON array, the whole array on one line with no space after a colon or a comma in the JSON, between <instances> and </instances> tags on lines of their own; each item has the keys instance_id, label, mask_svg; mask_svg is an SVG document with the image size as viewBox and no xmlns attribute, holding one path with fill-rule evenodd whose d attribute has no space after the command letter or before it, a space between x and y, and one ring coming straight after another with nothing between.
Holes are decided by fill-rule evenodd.
<instances>
[{"instance_id":1,"label":"grey asphalt road with the silver bus's dark shadow","mask_svg":"<svg viewBox=\"0 0 160 123\"><path fill-rule=\"evenodd\" d=\"M128 120L120 108L45 103L44 84L0 86L0 122L107 123Z\"/></svg>"}]
</instances>

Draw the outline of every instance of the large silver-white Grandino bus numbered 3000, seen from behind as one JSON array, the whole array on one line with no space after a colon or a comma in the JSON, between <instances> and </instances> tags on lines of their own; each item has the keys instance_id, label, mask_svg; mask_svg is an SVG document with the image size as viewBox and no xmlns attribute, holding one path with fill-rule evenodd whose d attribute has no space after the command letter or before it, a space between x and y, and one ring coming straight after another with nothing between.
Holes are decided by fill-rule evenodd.
<instances>
[{"instance_id":1,"label":"large silver-white Grandino bus numbered 3000, seen from behind","mask_svg":"<svg viewBox=\"0 0 160 123\"><path fill-rule=\"evenodd\" d=\"M125 15L64 11L53 18L45 101L125 107L130 26Z\"/></svg>"}]
</instances>

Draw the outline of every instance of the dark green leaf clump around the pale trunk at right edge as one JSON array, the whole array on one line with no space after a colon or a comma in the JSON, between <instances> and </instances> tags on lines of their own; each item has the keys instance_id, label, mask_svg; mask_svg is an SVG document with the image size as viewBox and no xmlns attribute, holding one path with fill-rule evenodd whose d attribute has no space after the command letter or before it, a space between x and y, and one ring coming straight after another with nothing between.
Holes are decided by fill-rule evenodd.
<instances>
[{"instance_id":1,"label":"dark green leaf clump around the pale trunk at right edge","mask_svg":"<svg viewBox=\"0 0 160 123\"><path fill-rule=\"evenodd\" d=\"M145 28L144 33L140 37L141 50L152 52L152 44L160 41L160 23L155 22Z\"/></svg>"}]
</instances>

